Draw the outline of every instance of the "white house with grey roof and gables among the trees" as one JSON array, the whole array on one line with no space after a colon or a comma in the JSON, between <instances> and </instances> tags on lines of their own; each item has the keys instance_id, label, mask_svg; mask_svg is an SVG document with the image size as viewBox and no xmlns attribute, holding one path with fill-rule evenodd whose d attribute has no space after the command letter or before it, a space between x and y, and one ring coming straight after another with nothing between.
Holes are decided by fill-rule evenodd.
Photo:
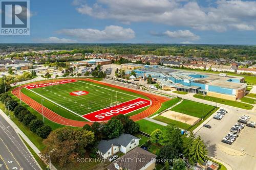
<instances>
[{"instance_id":1,"label":"white house with grey roof and gables among the trees","mask_svg":"<svg viewBox=\"0 0 256 170\"><path fill-rule=\"evenodd\" d=\"M98 144L97 153L102 156L104 159L118 153L122 152L126 154L132 149L136 148L139 145L140 138L137 138L133 135L123 133L118 138L110 140L101 140Z\"/></svg>"}]
</instances>

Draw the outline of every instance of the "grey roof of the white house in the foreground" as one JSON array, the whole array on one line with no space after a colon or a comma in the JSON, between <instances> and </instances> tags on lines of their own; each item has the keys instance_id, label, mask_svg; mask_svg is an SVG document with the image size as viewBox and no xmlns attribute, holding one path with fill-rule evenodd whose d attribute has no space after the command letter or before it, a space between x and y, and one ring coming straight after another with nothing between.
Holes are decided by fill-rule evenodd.
<instances>
[{"instance_id":1,"label":"grey roof of the white house in the foreground","mask_svg":"<svg viewBox=\"0 0 256 170\"><path fill-rule=\"evenodd\" d=\"M98 144L98 150L102 153L106 153L110 150L111 145L122 145L126 147L133 139L139 139L133 135L123 133L118 138L110 139L110 140L100 140Z\"/></svg>"}]
</instances>

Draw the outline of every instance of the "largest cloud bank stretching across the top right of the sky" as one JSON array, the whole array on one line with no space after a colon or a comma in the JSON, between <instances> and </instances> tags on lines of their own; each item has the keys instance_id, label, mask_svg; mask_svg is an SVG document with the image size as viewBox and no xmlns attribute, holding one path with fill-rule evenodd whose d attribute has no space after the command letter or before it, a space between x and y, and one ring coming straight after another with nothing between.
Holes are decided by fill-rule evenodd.
<instances>
[{"instance_id":1,"label":"largest cloud bank stretching across the top right of the sky","mask_svg":"<svg viewBox=\"0 0 256 170\"><path fill-rule=\"evenodd\" d=\"M256 29L255 1L219 0L211 7L180 0L140 0L139 3L137 0L98 0L93 5L76 4L81 14L123 23L152 21L217 32Z\"/></svg>"}]
</instances>

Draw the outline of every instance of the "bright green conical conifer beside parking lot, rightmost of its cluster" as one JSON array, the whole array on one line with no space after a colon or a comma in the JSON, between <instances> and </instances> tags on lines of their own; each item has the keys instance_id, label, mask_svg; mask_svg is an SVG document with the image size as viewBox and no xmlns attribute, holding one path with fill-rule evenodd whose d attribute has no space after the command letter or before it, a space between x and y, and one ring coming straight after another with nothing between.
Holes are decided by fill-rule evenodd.
<instances>
[{"instance_id":1,"label":"bright green conical conifer beside parking lot, rightmost of its cluster","mask_svg":"<svg viewBox=\"0 0 256 170\"><path fill-rule=\"evenodd\" d=\"M207 159L207 148L201 136L194 140L189 157L191 162L199 164L203 164L204 160Z\"/></svg>"}]
</instances>

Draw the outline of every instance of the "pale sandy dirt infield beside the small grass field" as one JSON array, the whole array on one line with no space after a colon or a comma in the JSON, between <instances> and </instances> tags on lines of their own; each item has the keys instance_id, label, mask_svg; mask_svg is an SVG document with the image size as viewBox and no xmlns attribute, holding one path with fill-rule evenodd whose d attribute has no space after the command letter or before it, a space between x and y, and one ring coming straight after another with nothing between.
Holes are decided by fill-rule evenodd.
<instances>
[{"instance_id":1,"label":"pale sandy dirt infield beside the small grass field","mask_svg":"<svg viewBox=\"0 0 256 170\"><path fill-rule=\"evenodd\" d=\"M179 113L179 112L175 112L172 110L168 110L168 111L162 113L161 116L170 118L173 120L177 120L179 122L182 122L182 123L185 123L188 125L195 125L201 120L201 118L190 116L190 115Z\"/></svg>"}]
</instances>

